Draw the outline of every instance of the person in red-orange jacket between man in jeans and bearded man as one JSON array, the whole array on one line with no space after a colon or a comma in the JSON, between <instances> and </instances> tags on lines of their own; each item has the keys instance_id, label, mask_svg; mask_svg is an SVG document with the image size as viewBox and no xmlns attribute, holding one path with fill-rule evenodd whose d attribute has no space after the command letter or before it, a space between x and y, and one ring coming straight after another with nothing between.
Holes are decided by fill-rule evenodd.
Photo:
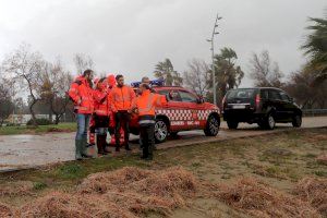
<instances>
[{"instance_id":1,"label":"person in red-orange jacket between man in jeans and bearded man","mask_svg":"<svg viewBox=\"0 0 327 218\"><path fill-rule=\"evenodd\" d=\"M106 152L107 146L107 132L109 125L109 113L111 110L108 110L108 87L106 84L106 77L100 78L96 84L96 89L94 92L95 99L95 110L94 110L94 120L95 129L97 130L97 148L99 155L108 154Z\"/></svg>"}]
</instances>

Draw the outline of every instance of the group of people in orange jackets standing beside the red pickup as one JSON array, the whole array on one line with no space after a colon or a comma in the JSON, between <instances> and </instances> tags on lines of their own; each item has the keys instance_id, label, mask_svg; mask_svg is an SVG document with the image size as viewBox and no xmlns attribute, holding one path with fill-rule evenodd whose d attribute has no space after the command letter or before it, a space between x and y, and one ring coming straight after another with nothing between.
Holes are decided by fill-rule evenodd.
<instances>
[{"instance_id":1,"label":"group of people in orange jackets standing beside the red pickup","mask_svg":"<svg viewBox=\"0 0 327 218\"><path fill-rule=\"evenodd\" d=\"M71 84L69 96L74 102L77 120L75 137L75 158L92 157L87 153L87 133L89 143L95 144L99 155L106 155L107 133L114 134L116 152L120 152L121 134L124 148L129 145L131 114L137 116L140 142L143 147L141 158L152 160L155 146L155 109L167 102L167 97L155 94L149 78L143 77L137 92L124 84L123 75L109 75L93 81L94 72L84 71L83 75ZM95 134L96 133L96 134Z\"/></svg>"}]
</instances>

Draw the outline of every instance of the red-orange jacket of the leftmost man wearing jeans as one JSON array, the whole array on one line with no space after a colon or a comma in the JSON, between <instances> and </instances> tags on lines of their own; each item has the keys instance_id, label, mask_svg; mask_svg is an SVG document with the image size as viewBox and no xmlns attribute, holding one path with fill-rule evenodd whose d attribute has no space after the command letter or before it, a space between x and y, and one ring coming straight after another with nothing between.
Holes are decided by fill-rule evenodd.
<instances>
[{"instance_id":1,"label":"red-orange jacket of the leftmost man wearing jeans","mask_svg":"<svg viewBox=\"0 0 327 218\"><path fill-rule=\"evenodd\" d=\"M93 113L94 99L93 89L87 80L78 76L72 84L69 90L69 96L74 101L74 108L77 113ZM80 104L78 104L80 102Z\"/></svg>"}]
</instances>

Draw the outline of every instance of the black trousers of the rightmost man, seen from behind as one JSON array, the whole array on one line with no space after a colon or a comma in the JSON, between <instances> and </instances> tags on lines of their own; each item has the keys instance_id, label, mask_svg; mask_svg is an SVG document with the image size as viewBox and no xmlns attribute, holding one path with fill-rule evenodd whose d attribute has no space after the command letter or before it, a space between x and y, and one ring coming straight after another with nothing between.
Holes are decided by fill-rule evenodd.
<instances>
[{"instance_id":1,"label":"black trousers of the rightmost man, seen from behind","mask_svg":"<svg viewBox=\"0 0 327 218\"><path fill-rule=\"evenodd\" d=\"M143 145L143 157L153 157L155 146L155 124L140 126L141 141Z\"/></svg>"}]
</instances>

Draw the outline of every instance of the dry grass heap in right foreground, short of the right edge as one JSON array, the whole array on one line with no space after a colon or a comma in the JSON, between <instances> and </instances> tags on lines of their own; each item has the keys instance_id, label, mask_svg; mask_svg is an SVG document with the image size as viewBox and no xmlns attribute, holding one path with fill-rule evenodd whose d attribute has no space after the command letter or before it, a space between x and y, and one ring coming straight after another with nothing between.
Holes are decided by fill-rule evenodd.
<instances>
[{"instance_id":1,"label":"dry grass heap in right foreground, short of the right edge","mask_svg":"<svg viewBox=\"0 0 327 218\"><path fill-rule=\"evenodd\" d=\"M310 204L250 178L231 186L221 185L217 195L226 204L254 217L320 217Z\"/></svg>"}]
</instances>

